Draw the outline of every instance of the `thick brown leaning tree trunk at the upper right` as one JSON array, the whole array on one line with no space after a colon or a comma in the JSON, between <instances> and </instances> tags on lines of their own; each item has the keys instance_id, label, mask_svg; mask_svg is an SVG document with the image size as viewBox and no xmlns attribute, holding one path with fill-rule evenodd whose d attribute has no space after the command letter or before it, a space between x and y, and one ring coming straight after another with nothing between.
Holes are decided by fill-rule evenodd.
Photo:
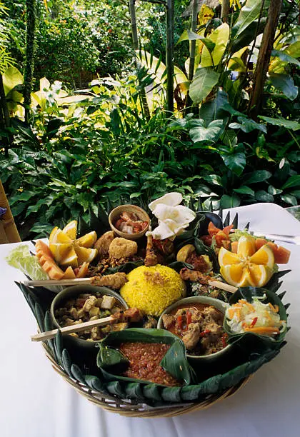
<instances>
[{"instance_id":1,"label":"thick brown leaning tree trunk at the upper right","mask_svg":"<svg viewBox=\"0 0 300 437\"><path fill-rule=\"evenodd\" d=\"M271 0L269 6L268 19L261 40L259 49L259 57L257 59L256 68L253 78L253 89L250 96L248 114L252 119L256 119L261 109L261 101L264 93L264 83L266 81L266 73L269 68L271 51L274 44L274 36L281 11L282 0Z\"/></svg>"}]
</instances>

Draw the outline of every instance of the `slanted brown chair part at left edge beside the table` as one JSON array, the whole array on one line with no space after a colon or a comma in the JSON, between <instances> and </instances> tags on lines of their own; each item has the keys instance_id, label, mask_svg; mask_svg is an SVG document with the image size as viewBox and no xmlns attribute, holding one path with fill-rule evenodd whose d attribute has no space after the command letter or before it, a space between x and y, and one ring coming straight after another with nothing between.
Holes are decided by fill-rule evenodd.
<instances>
[{"instance_id":1,"label":"slanted brown chair part at left edge beside the table","mask_svg":"<svg viewBox=\"0 0 300 437\"><path fill-rule=\"evenodd\" d=\"M21 238L14 223L14 217L9 208L9 201L6 198L4 187L0 181L0 206L6 208L6 213L0 218L0 244L19 243Z\"/></svg>"}]
</instances>

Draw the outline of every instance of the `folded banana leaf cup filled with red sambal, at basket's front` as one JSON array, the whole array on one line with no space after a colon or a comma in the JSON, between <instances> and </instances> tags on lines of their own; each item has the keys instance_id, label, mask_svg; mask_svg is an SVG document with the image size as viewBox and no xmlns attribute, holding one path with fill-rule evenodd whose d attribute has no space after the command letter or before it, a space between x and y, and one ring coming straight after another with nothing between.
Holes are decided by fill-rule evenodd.
<instances>
[{"instance_id":1,"label":"folded banana leaf cup filled with red sambal, at basket's front","mask_svg":"<svg viewBox=\"0 0 300 437\"><path fill-rule=\"evenodd\" d=\"M164 329L129 328L126 333L111 332L99 348L97 366L107 381L168 387L191 383L184 343Z\"/></svg>"}]
</instances>

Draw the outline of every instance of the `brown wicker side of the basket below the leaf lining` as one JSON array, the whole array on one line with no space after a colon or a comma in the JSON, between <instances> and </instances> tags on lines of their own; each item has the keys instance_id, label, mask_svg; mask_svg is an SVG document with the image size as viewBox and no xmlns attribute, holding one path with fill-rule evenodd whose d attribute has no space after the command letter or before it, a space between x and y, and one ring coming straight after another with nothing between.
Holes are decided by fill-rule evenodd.
<instances>
[{"instance_id":1,"label":"brown wicker side of the basket below the leaf lining","mask_svg":"<svg viewBox=\"0 0 300 437\"><path fill-rule=\"evenodd\" d=\"M209 408L214 405L214 403L222 401L224 398L234 395L236 391L244 387L249 381L251 376L242 379L238 384L227 388L221 393L207 395L204 401L186 404L176 404L174 406L161 406L161 407L151 407L147 406L145 403L139 403L137 401L132 401L129 399L119 399L115 396L108 396L107 393L101 393L99 391L91 390L86 385L70 378L69 375L64 371L64 368L59 366L56 361L51 356L51 351L47 344L43 341L43 346L46 352L47 358L52 363L54 370L59 373L64 380L69 383L75 390L87 398L89 401L94 403L94 405L103 408L106 411L111 411L111 413L119 413L121 416L126 417L141 417L141 418L159 418L159 417L174 417L180 416L181 414L192 413L193 411Z\"/></svg>"}]
</instances>

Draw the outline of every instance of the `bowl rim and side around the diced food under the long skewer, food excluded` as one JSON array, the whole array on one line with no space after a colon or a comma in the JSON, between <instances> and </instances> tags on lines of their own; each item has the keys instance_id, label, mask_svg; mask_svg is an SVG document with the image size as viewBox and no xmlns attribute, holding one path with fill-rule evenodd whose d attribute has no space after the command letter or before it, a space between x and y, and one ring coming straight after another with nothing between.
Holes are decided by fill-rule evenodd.
<instances>
[{"instance_id":1,"label":"bowl rim and side around the diced food under the long skewer, food excluded","mask_svg":"<svg viewBox=\"0 0 300 437\"><path fill-rule=\"evenodd\" d=\"M59 325L59 322L56 320L55 310L57 308L60 308L62 303L64 303L64 301L66 301L67 299L76 298L81 293L91 293L91 294L96 293L99 295L106 294L106 296L114 296L114 298L116 298L116 300L119 301L120 308L124 308L124 309L129 308L129 306L124 301L124 299L121 298L121 296L118 293L112 291L110 288L91 286L91 285L71 286L68 288L64 288L63 291L58 293L51 303L50 313L56 328L61 328L61 326ZM84 348L94 348L98 343L97 341L86 341L82 338L77 338L70 335L64 336L64 341L66 341L66 343L71 343L71 346L81 346Z\"/></svg>"}]
</instances>

